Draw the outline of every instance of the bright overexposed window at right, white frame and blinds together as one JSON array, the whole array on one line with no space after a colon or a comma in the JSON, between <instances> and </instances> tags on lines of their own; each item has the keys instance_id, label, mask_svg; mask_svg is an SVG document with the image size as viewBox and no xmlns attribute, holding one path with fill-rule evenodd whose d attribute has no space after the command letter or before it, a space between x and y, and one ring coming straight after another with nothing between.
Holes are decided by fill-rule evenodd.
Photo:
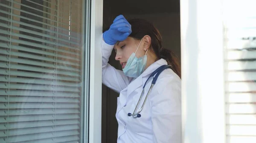
<instances>
[{"instance_id":1,"label":"bright overexposed window at right, white frame and blinds together","mask_svg":"<svg viewBox=\"0 0 256 143\"><path fill-rule=\"evenodd\" d=\"M255 5L180 0L184 142L256 143Z\"/></svg>"}]
</instances>

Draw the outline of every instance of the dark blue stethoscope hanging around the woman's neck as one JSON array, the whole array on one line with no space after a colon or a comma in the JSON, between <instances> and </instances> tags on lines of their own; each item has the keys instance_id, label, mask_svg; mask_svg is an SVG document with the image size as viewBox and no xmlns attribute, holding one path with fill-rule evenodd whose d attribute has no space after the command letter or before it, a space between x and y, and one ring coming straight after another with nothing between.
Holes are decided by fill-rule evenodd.
<instances>
[{"instance_id":1,"label":"dark blue stethoscope hanging around the woman's neck","mask_svg":"<svg viewBox=\"0 0 256 143\"><path fill-rule=\"evenodd\" d=\"M171 67L172 67L171 65L162 65L162 66L158 67L153 73L151 73L151 75L148 77L148 79L146 80L146 82L145 82L145 84L144 84L144 86L143 86L143 90L142 90L142 93L141 93L141 95L140 95L140 99L139 99L139 101L138 101L138 103L137 103L137 105L136 105L136 107L135 107L135 109L134 109L133 114L128 113L128 116L132 116L133 118L140 118L140 117L141 117L140 112L142 111L142 109L143 109L143 107L144 107L144 105L145 105L145 103L146 103L146 100L147 100L147 98L148 98L148 95L149 95L150 91L152 90L154 84L156 83L158 76L160 75L160 73L163 72L163 70L165 70L165 69L167 69L167 68L171 68ZM154 76L154 75L155 75L155 76ZM148 93L147 93L147 95L146 95L146 97L145 97L145 100L144 100L144 102L143 102L143 105L142 105L142 107L140 108L139 112L135 113L136 110L137 110L137 108L138 108L138 106L139 106L139 104L140 104L140 100L141 100L142 95L143 95L143 93L144 93L146 83L148 82L148 80L149 80L151 77L153 77L153 81L152 81L151 86L150 86L150 88L149 88L149 90L148 90Z\"/></svg>"}]
</instances>

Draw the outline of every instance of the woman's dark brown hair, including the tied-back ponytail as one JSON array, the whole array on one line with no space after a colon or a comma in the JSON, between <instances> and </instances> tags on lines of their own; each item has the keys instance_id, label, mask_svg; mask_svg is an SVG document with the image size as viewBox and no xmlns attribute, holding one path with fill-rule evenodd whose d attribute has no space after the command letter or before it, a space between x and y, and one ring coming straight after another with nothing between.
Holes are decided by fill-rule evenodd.
<instances>
[{"instance_id":1,"label":"woman's dark brown hair, including the tied-back ponytail","mask_svg":"<svg viewBox=\"0 0 256 143\"><path fill-rule=\"evenodd\" d=\"M131 24L130 37L142 39L145 35L151 37L151 49L156 54L157 59L165 59L172 70L181 78L179 59L172 50L163 48L162 36L155 26L143 19L133 19L128 21Z\"/></svg>"}]
</instances>

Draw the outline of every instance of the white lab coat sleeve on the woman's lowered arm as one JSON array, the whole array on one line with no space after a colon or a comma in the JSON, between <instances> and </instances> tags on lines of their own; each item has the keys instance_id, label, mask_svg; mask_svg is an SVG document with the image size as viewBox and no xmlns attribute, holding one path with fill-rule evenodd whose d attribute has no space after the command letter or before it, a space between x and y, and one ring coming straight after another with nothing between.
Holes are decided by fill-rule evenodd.
<instances>
[{"instance_id":1,"label":"white lab coat sleeve on the woman's lowered arm","mask_svg":"<svg viewBox=\"0 0 256 143\"><path fill-rule=\"evenodd\" d=\"M165 78L155 85L150 96L154 143L181 143L180 79Z\"/></svg>"}]
</instances>

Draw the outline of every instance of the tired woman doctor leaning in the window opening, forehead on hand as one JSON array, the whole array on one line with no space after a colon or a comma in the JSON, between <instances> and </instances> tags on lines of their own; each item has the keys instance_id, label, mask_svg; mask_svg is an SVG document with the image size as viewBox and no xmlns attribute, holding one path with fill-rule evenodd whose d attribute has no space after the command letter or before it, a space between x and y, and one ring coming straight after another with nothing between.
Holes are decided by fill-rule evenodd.
<instances>
[{"instance_id":1,"label":"tired woman doctor leaning in the window opening, forehead on hand","mask_svg":"<svg viewBox=\"0 0 256 143\"><path fill-rule=\"evenodd\" d=\"M122 70L108 64L113 49ZM103 33L102 82L120 93L117 143L181 143L180 65L154 25L115 18Z\"/></svg>"}]
</instances>

